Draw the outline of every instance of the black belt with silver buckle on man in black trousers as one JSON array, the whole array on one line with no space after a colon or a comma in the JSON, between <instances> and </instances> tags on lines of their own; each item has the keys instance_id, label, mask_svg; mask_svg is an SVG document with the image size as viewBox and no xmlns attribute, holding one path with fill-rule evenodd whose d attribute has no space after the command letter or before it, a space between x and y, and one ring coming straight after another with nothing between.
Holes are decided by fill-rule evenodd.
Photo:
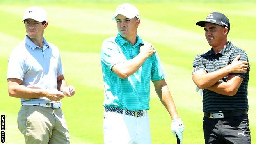
<instances>
[{"instance_id":1,"label":"black belt with silver buckle on man in black trousers","mask_svg":"<svg viewBox=\"0 0 256 144\"><path fill-rule=\"evenodd\" d=\"M204 117L208 117L210 119L219 119L219 118L226 118L226 117L235 117L240 116L242 114L248 114L247 110L239 110L235 112L217 112L217 113L204 113Z\"/></svg>"}]
</instances>

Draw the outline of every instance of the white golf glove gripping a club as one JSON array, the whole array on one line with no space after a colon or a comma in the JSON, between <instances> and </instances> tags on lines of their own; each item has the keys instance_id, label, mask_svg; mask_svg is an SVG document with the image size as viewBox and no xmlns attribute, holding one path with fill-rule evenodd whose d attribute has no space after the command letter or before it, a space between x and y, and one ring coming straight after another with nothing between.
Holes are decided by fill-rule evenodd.
<instances>
[{"instance_id":1,"label":"white golf glove gripping a club","mask_svg":"<svg viewBox=\"0 0 256 144\"><path fill-rule=\"evenodd\" d=\"M176 137L176 134L178 135L178 138L180 139L181 143L183 142L182 132L184 128L185 126L180 118L171 121L171 132L174 135L174 137Z\"/></svg>"}]
</instances>

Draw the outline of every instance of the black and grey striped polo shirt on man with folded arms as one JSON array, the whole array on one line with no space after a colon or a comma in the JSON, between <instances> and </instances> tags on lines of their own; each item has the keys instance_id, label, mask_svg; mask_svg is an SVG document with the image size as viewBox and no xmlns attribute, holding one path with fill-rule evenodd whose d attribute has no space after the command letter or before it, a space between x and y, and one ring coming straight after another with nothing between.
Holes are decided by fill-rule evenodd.
<instances>
[{"instance_id":1,"label":"black and grey striped polo shirt on man with folded arms","mask_svg":"<svg viewBox=\"0 0 256 144\"><path fill-rule=\"evenodd\" d=\"M193 62L193 73L199 69L206 70L207 73L217 71L230 64L235 57L241 55L240 61L248 61L247 54L242 49L233 46L229 41L226 47L219 53L214 54L213 48L205 54L195 57ZM208 89L203 90L203 112L231 112L236 110L248 110L247 87L249 80L250 66L247 73L230 73L243 78L238 92L234 96L217 94ZM227 81L227 77L220 80Z\"/></svg>"}]
</instances>

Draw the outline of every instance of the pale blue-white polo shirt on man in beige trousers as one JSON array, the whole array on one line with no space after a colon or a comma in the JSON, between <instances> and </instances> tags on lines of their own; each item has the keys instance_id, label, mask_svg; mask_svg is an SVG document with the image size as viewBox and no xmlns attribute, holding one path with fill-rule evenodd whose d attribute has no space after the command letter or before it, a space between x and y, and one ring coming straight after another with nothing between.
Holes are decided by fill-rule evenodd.
<instances>
[{"instance_id":1,"label":"pale blue-white polo shirt on man in beige trousers","mask_svg":"<svg viewBox=\"0 0 256 144\"><path fill-rule=\"evenodd\" d=\"M57 77L64 73L57 46L43 39L43 48L34 44L27 35L11 52L8 59L7 79L22 80L21 85L33 89L57 89ZM49 103L46 97L23 99L26 103Z\"/></svg>"}]
</instances>

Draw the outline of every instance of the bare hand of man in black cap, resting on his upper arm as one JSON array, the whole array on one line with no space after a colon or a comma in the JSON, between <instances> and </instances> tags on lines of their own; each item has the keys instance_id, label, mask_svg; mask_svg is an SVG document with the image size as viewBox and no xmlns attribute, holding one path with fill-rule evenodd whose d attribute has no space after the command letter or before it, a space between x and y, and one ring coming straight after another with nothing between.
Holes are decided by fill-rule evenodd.
<instances>
[{"instance_id":1,"label":"bare hand of man in black cap, resting on his upper arm","mask_svg":"<svg viewBox=\"0 0 256 144\"><path fill-rule=\"evenodd\" d=\"M248 62L239 61L241 55L235 57L231 64L227 65L231 73L246 73L248 69Z\"/></svg>"}]
</instances>

